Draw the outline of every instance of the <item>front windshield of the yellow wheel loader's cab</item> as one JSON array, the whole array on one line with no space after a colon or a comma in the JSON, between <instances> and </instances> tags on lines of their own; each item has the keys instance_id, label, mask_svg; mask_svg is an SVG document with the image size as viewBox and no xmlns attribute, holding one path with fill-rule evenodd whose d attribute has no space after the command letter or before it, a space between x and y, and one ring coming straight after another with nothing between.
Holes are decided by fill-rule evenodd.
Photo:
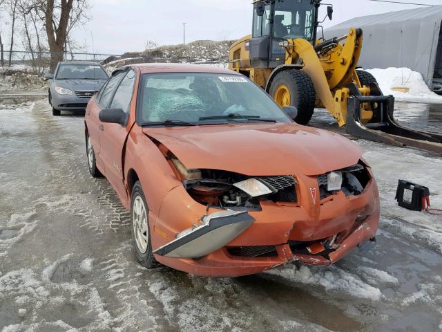
<instances>
[{"instance_id":1,"label":"front windshield of the yellow wheel loader's cab","mask_svg":"<svg viewBox=\"0 0 442 332\"><path fill-rule=\"evenodd\" d=\"M273 37L305 38L313 32L314 5L311 0L277 1L273 21Z\"/></svg>"}]
</instances>

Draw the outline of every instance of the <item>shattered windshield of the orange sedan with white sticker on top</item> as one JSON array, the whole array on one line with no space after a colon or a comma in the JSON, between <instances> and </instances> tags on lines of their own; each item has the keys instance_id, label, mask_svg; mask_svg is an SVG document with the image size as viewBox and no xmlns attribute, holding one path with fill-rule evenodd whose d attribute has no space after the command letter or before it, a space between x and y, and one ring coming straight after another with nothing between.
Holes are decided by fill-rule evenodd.
<instances>
[{"instance_id":1,"label":"shattered windshield of the orange sedan with white sticker on top","mask_svg":"<svg viewBox=\"0 0 442 332\"><path fill-rule=\"evenodd\" d=\"M137 111L142 124L171 120L198 124L291 121L267 93L247 78L213 73L145 74Z\"/></svg>"}]
</instances>

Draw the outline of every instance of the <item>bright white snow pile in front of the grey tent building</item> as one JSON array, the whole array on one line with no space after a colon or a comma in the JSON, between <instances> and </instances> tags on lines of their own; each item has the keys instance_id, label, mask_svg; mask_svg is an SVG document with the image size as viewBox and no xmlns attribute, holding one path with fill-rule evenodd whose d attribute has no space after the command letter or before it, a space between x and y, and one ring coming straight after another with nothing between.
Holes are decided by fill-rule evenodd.
<instances>
[{"instance_id":1,"label":"bright white snow pile in front of the grey tent building","mask_svg":"<svg viewBox=\"0 0 442 332\"><path fill-rule=\"evenodd\" d=\"M442 96L432 92L421 73L412 71L410 68L386 68L365 70L376 77L384 95L394 95L401 102L441 102ZM408 88L407 93L394 91L392 88Z\"/></svg>"}]
</instances>

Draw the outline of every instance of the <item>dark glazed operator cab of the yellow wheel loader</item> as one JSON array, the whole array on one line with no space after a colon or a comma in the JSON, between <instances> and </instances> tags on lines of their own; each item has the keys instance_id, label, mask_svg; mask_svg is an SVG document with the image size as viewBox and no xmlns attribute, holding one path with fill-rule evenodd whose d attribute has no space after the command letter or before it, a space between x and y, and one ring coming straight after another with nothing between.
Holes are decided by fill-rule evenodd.
<instances>
[{"instance_id":1,"label":"dark glazed operator cab of the yellow wheel loader","mask_svg":"<svg viewBox=\"0 0 442 332\"><path fill-rule=\"evenodd\" d=\"M304 38L313 43L319 1L260 0L253 3L250 59L253 68L274 68L285 63L279 43Z\"/></svg>"}]
</instances>

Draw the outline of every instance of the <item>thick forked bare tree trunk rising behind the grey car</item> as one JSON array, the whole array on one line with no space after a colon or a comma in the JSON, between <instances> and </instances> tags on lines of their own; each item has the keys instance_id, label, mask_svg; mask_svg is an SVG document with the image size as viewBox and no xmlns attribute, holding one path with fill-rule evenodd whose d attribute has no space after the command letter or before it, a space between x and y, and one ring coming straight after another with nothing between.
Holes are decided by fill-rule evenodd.
<instances>
[{"instance_id":1,"label":"thick forked bare tree trunk rising behind the grey car","mask_svg":"<svg viewBox=\"0 0 442 332\"><path fill-rule=\"evenodd\" d=\"M87 19L88 0L39 0L50 50L50 71L64 58L66 39L74 26Z\"/></svg>"}]
</instances>

